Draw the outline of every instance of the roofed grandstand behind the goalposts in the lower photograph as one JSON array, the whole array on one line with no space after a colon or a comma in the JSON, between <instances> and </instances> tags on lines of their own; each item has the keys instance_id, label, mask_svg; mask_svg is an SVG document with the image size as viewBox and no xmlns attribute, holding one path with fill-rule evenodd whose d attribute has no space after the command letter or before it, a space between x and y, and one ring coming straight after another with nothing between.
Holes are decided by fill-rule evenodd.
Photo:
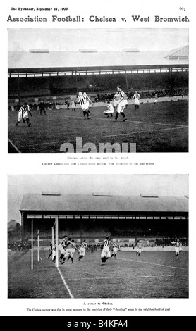
<instances>
[{"instance_id":1,"label":"roofed grandstand behind the goalposts in the lower photograph","mask_svg":"<svg viewBox=\"0 0 196 331\"><path fill-rule=\"evenodd\" d=\"M66 233L80 242L93 242L106 235L124 242L140 238L152 245L169 237L188 240L188 196L112 196L93 193L24 194L20 206L22 239L39 230L43 246L49 246L54 218L59 220L59 237ZM161 242L162 243L162 242Z\"/></svg>"}]
</instances>

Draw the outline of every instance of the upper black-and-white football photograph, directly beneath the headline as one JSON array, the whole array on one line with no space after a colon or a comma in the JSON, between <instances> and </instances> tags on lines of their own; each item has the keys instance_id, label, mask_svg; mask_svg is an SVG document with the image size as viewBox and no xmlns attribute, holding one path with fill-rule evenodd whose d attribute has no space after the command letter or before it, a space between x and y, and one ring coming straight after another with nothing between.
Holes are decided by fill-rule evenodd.
<instances>
[{"instance_id":1,"label":"upper black-and-white football photograph, directly beneath the headline","mask_svg":"<svg viewBox=\"0 0 196 331\"><path fill-rule=\"evenodd\" d=\"M188 153L188 29L8 29L8 153Z\"/></svg>"}]
</instances>

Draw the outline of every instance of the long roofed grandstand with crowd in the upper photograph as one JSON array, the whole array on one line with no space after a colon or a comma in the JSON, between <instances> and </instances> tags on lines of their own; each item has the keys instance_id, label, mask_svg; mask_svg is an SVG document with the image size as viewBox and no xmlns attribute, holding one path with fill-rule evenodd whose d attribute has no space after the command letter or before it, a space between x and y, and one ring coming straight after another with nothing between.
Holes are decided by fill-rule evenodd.
<instances>
[{"instance_id":1,"label":"long roofed grandstand with crowd in the upper photograph","mask_svg":"<svg viewBox=\"0 0 196 331\"><path fill-rule=\"evenodd\" d=\"M122 85L130 95L154 90L179 90L188 94L188 46L171 51L29 51L8 52L8 104L23 99L38 102L39 98L69 98L79 90L92 98L116 91ZM174 93L174 92L173 92Z\"/></svg>"}]
</instances>

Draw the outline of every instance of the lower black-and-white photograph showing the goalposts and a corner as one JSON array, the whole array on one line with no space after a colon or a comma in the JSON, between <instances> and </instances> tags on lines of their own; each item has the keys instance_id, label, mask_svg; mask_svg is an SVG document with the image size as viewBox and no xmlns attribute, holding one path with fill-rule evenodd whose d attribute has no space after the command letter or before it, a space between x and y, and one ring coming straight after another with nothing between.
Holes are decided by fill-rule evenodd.
<instances>
[{"instance_id":1,"label":"lower black-and-white photograph showing the goalposts and a corner","mask_svg":"<svg viewBox=\"0 0 196 331\"><path fill-rule=\"evenodd\" d=\"M8 299L189 298L187 174L7 178Z\"/></svg>"}]
</instances>

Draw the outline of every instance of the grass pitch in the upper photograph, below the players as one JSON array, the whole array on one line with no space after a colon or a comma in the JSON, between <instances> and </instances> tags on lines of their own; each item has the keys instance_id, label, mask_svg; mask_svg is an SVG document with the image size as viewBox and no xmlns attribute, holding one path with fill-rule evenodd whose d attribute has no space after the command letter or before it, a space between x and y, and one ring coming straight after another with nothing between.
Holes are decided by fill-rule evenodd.
<instances>
[{"instance_id":1,"label":"grass pitch in the upper photograph, below the players","mask_svg":"<svg viewBox=\"0 0 196 331\"><path fill-rule=\"evenodd\" d=\"M128 105L114 123L106 118L105 107L92 107L91 120L84 120L82 110L67 109L47 111L39 115L32 111L31 127L20 123L15 127L18 112L8 113L8 152L59 153L61 144L71 143L76 151L76 137L85 143L93 143L99 151L99 143L136 143L137 153L188 152L188 101L166 101L158 105L140 104L135 110ZM115 114L114 114L115 115ZM115 150L113 150L115 151Z\"/></svg>"}]
</instances>

